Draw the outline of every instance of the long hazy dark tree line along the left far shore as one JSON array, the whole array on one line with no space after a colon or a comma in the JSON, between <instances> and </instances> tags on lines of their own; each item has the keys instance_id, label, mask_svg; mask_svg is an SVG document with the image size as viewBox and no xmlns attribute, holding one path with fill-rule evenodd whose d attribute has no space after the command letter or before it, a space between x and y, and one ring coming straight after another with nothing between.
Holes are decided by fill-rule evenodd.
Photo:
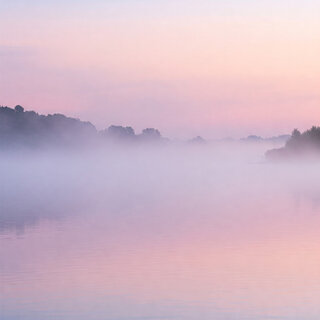
<instances>
[{"instance_id":1,"label":"long hazy dark tree line along the left far shore","mask_svg":"<svg viewBox=\"0 0 320 320\"><path fill-rule=\"evenodd\" d=\"M17 105L14 109L0 107L0 147L81 147L104 142L164 143L159 130L146 128L136 134L131 127L110 126L98 131L90 122L69 118L63 114L40 115L25 111Z\"/></svg>"}]
</instances>

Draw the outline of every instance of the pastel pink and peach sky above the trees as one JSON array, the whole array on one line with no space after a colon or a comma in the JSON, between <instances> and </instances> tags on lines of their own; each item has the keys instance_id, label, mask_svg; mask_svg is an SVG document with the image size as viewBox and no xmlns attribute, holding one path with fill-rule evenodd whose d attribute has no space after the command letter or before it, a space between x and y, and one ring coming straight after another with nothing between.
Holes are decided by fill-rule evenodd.
<instances>
[{"instance_id":1,"label":"pastel pink and peach sky above the trees","mask_svg":"<svg viewBox=\"0 0 320 320\"><path fill-rule=\"evenodd\" d=\"M318 0L0 0L0 105L172 138L303 130L319 30Z\"/></svg>"}]
</instances>

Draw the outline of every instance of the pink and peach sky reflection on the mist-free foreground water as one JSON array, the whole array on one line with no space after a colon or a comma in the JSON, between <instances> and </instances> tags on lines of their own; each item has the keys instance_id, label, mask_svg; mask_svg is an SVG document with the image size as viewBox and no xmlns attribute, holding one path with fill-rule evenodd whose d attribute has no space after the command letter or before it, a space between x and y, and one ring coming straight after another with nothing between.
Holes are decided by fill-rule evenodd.
<instances>
[{"instance_id":1,"label":"pink and peach sky reflection on the mist-free foreground water","mask_svg":"<svg viewBox=\"0 0 320 320\"><path fill-rule=\"evenodd\" d=\"M250 201L233 192L232 203L177 196L153 211L90 212L3 235L4 314L313 319L320 314L317 208L268 190Z\"/></svg>"}]
</instances>

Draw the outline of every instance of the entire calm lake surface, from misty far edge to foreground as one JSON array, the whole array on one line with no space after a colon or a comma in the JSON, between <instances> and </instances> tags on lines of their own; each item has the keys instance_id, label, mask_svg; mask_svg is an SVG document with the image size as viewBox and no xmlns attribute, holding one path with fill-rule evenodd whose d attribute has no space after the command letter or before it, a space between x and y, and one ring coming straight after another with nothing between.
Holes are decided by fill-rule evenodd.
<instances>
[{"instance_id":1,"label":"entire calm lake surface, from misty far edge to foreground","mask_svg":"<svg viewBox=\"0 0 320 320\"><path fill-rule=\"evenodd\" d=\"M320 165L254 155L3 158L0 319L319 319Z\"/></svg>"}]
</instances>

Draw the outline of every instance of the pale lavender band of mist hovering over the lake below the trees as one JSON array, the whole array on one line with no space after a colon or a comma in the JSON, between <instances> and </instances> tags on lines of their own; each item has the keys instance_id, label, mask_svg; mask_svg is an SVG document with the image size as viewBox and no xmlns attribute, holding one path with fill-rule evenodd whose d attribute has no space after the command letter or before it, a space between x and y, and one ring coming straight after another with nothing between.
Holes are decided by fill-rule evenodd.
<instances>
[{"instance_id":1,"label":"pale lavender band of mist hovering over the lake below the trees","mask_svg":"<svg viewBox=\"0 0 320 320\"><path fill-rule=\"evenodd\" d=\"M162 200L214 201L223 211L227 198L247 203L278 191L317 198L318 164L270 162L265 152L273 147L222 141L1 152L0 230L89 212L121 215Z\"/></svg>"}]
</instances>

